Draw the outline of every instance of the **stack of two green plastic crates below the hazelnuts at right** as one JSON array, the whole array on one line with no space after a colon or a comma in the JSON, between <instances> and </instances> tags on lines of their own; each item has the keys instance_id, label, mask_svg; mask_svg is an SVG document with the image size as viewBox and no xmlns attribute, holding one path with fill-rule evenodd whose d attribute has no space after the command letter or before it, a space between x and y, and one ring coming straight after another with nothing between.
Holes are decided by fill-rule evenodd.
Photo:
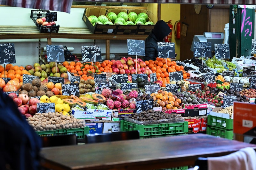
<instances>
[{"instance_id":1,"label":"stack of two green plastic crates below the hazelnuts at right","mask_svg":"<svg viewBox=\"0 0 256 170\"><path fill-rule=\"evenodd\" d=\"M208 115L206 134L233 140L233 119Z\"/></svg>"}]
</instances>

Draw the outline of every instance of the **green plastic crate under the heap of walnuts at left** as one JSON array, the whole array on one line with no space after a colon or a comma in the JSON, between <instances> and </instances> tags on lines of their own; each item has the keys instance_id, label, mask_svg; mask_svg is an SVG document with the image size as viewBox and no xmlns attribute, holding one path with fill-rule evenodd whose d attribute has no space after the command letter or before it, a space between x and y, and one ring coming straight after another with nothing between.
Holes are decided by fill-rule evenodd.
<instances>
[{"instance_id":1,"label":"green plastic crate under the heap of walnuts at left","mask_svg":"<svg viewBox=\"0 0 256 170\"><path fill-rule=\"evenodd\" d=\"M77 139L84 139L84 135L89 134L89 127L73 128L73 129L57 129L53 131L36 131L39 136L55 136L76 134Z\"/></svg>"}]
</instances>

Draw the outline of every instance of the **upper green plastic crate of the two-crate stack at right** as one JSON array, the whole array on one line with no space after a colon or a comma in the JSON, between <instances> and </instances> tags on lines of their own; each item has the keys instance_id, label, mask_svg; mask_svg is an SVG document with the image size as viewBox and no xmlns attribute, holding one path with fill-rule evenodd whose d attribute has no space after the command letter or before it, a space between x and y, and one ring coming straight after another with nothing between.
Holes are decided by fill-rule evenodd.
<instances>
[{"instance_id":1,"label":"upper green plastic crate of the two-crate stack at right","mask_svg":"<svg viewBox=\"0 0 256 170\"><path fill-rule=\"evenodd\" d=\"M207 125L231 130L233 129L233 119L208 115Z\"/></svg>"}]
</instances>

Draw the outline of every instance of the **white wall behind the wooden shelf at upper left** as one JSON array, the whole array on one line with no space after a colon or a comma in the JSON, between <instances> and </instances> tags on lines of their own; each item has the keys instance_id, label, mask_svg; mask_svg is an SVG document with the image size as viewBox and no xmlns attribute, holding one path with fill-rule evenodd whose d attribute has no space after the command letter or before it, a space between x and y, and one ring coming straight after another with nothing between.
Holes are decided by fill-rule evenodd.
<instances>
[{"instance_id":1,"label":"white wall behind the wooden shelf at upper left","mask_svg":"<svg viewBox=\"0 0 256 170\"><path fill-rule=\"evenodd\" d=\"M33 20L30 18L31 10L19 7L0 7L0 25L32 25ZM51 11L54 12L54 11ZM57 11L58 25L63 27L86 27L82 20L84 14L83 8L71 8L71 12ZM134 37L135 39L135 37ZM47 44L47 39L0 39L0 43L14 43L16 64L26 66L39 62L39 54L41 48ZM94 40L91 39L52 39L52 44L74 47L71 53L81 53L81 46L92 45ZM95 45L100 46L101 53L106 53L105 40L95 40ZM127 53L126 40L110 40L111 53Z\"/></svg>"}]
</instances>

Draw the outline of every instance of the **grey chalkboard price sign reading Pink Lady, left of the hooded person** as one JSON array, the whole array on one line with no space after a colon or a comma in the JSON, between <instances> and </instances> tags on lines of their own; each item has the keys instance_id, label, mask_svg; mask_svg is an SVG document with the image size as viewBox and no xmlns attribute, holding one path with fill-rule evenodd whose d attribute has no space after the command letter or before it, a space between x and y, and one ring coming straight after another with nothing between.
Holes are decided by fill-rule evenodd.
<instances>
[{"instance_id":1,"label":"grey chalkboard price sign reading Pink Lady, left of the hooded person","mask_svg":"<svg viewBox=\"0 0 256 170\"><path fill-rule=\"evenodd\" d=\"M128 55L145 56L145 41L137 39L127 39Z\"/></svg>"}]
</instances>

